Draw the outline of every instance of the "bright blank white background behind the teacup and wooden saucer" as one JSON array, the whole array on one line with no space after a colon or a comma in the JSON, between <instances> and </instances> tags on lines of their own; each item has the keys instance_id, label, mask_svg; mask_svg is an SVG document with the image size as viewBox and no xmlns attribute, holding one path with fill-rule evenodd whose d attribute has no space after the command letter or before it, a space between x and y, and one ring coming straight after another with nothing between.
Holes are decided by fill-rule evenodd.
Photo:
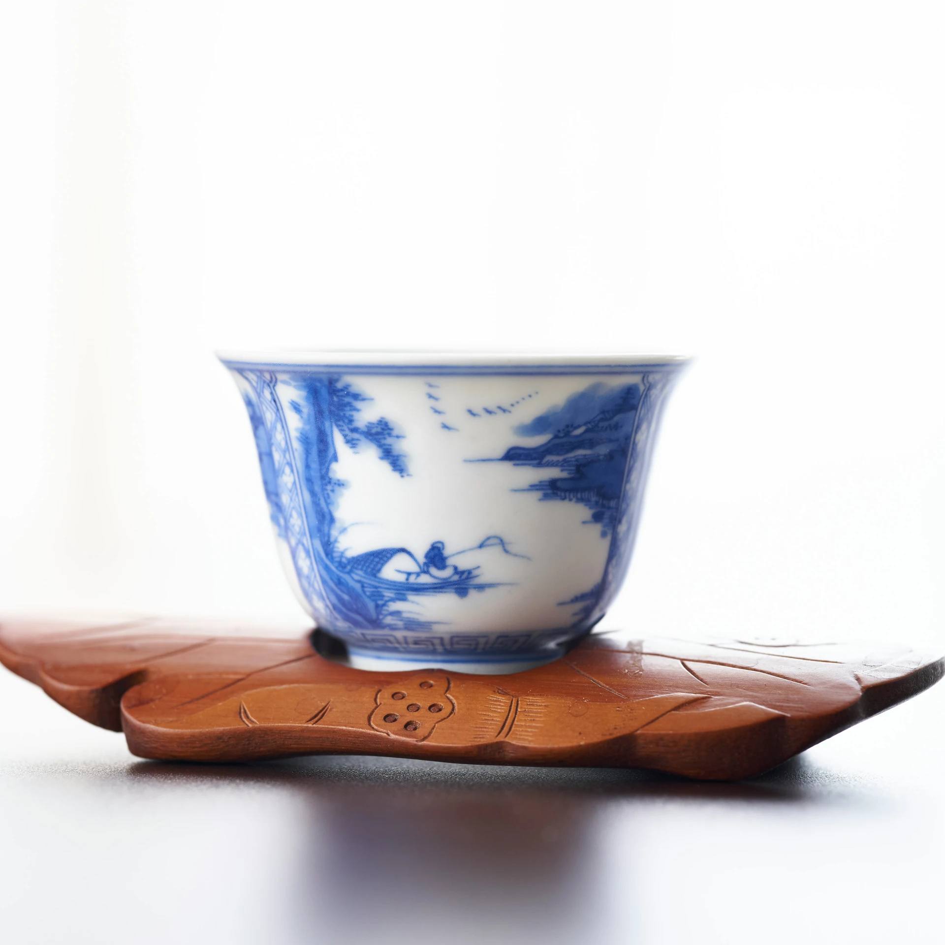
<instances>
[{"instance_id":1,"label":"bright blank white background behind the teacup and wooden saucer","mask_svg":"<svg viewBox=\"0 0 945 945\"><path fill-rule=\"evenodd\" d=\"M943 26L0 4L0 610L302 622L215 349L648 348L605 626L945 641Z\"/></svg>"}]
</instances>

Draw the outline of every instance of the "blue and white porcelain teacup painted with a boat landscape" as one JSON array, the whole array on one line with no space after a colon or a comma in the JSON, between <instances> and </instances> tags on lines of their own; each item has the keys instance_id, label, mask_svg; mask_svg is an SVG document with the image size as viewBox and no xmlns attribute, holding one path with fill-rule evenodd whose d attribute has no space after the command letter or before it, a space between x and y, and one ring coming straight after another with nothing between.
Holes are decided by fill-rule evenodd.
<instances>
[{"instance_id":1,"label":"blue and white porcelain teacup painted with a boat landscape","mask_svg":"<svg viewBox=\"0 0 945 945\"><path fill-rule=\"evenodd\" d=\"M563 653L627 574L680 357L225 353L285 573L364 669Z\"/></svg>"}]
</instances>

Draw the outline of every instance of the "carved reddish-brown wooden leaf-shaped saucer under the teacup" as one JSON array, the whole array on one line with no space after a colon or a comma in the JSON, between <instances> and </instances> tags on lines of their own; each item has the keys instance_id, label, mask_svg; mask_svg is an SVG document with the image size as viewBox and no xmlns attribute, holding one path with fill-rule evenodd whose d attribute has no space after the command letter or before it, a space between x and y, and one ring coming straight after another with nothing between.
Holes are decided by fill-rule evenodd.
<instances>
[{"instance_id":1,"label":"carved reddish-brown wooden leaf-shaped saucer under the teacup","mask_svg":"<svg viewBox=\"0 0 945 945\"><path fill-rule=\"evenodd\" d=\"M142 758L369 754L712 780L761 774L943 673L941 658L902 645L608 635L510 676L370 673L319 655L309 634L169 620L4 621L0 662L123 730Z\"/></svg>"}]
</instances>

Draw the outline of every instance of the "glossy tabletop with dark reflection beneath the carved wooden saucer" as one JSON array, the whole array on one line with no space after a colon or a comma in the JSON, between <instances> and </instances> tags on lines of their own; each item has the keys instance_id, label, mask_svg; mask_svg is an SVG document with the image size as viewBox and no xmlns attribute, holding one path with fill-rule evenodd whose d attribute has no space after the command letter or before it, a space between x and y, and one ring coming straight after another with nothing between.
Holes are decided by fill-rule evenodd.
<instances>
[{"instance_id":1,"label":"glossy tabletop with dark reflection beneath the carved wooden saucer","mask_svg":"<svg viewBox=\"0 0 945 945\"><path fill-rule=\"evenodd\" d=\"M33 942L945 935L945 683L751 782L168 765L0 670L0 925Z\"/></svg>"}]
</instances>

